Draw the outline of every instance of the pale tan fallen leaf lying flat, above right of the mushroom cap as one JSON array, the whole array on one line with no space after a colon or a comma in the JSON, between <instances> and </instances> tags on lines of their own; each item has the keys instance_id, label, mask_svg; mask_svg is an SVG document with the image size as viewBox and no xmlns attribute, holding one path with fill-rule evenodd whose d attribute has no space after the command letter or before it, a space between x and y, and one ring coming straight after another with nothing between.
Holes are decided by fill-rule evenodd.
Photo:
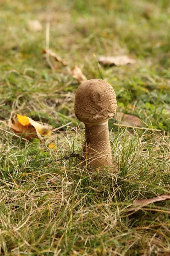
<instances>
[{"instance_id":1,"label":"pale tan fallen leaf lying flat, above right of the mushroom cap","mask_svg":"<svg viewBox=\"0 0 170 256\"><path fill-rule=\"evenodd\" d=\"M134 64L136 61L127 55L118 55L113 57L100 56L98 58L99 63L109 66L124 66L127 64Z\"/></svg>"}]
</instances>

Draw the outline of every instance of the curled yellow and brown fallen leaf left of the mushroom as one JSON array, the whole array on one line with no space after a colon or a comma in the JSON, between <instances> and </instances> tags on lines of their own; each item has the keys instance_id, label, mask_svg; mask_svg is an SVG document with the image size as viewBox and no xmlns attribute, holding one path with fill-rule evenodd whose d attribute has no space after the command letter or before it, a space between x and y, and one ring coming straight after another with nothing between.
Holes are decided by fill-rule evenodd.
<instances>
[{"instance_id":1,"label":"curled yellow and brown fallen leaf left of the mushroom","mask_svg":"<svg viewBox=\"0 0 170 256\"><path fill-rule=\"evenodd\" d=\"M51 134L51 127L49 125L40 124L35 122L28 116L17 115L16 119L11 119L9 127L14 131L15 134L23 134L23 136L31 140L32 138L38 138L42 141L42 136Z\"/></svg>"}]
</instances>

